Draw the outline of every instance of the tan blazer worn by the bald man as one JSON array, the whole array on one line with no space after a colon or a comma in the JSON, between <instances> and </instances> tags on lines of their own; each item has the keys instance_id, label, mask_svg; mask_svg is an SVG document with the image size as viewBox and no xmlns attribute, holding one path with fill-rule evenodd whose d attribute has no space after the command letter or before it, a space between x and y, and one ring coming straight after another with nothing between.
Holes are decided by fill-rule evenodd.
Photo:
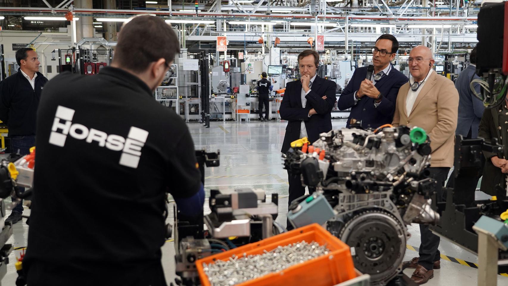
<instances>
[{"instance_id":1,"label":"tan blazer worn by the bald man","mask_svg":"<svg viewBox=\"0 0 508 286\"><path fill-rule=\"evenodd\" d=\"M430 167L452 167L459 92L453 81L432 72L407 116L409 83L399 89L392 125L418 126L430 137Z\"/></svg>"}]
</instances>

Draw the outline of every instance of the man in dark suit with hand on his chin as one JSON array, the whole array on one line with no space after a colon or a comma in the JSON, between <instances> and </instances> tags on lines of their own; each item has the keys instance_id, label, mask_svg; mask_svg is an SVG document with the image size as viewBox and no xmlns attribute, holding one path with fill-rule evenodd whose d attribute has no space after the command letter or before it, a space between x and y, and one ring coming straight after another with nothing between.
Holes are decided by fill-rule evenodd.
<instances>
[{"instance_id":1,"label":"man in dark suit with hand on his chin","mask_svg":"<svg viewBox=\"0 0 508 286\"><path fill-rule=\"evenodd\" d=\"M291 142L307 137L310 142L319 138L319 134L332 130L331 111L337 98L336 83L317 76L319 54L314 50L305 50L298 55L301 78L288 82L280 104L280 118L288 120L282 153L290 148ZM289 204L303 195L300 174L288 170ZM288 220L288 230L293 229Z\"/></svg>"}]
</instances>

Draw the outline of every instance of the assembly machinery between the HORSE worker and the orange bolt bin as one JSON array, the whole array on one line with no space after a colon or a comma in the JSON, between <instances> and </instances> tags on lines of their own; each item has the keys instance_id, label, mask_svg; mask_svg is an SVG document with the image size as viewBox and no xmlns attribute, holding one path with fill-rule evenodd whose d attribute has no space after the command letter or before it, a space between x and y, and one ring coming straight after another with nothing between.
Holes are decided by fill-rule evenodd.
<instances>
[{"instance_id":1,"label":"assembly machinery between the HORSE worker and the orange bolt bin","mask_svg":"<svg viewBox=\"0 0 508 286\"><path fill-rule=\"evenodd\" d=\"M197 150L196 158L204 183L204 167L219 166L220 151ZM175 270L180 276L175 283L199 285L196 260L283 232L274 223L278 214L278 195L272 194L270 202L266 197L260 189L212 189L208 200L211 213L196 217L181 214L175 205Z\"/></svg>"}]
</instances>

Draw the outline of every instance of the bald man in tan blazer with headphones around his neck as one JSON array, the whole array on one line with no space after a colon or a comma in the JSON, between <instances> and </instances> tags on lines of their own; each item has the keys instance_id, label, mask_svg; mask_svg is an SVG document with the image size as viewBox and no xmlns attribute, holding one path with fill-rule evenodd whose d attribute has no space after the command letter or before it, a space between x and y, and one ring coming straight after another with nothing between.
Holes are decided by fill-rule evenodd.
<instances>
[{"instance_id":1,"label":"bald man in tan blazer with headphones around his neck","mask_svg":"<svg viewBox=\"0 0 508 286\"><path fill-rule=\"evenodd\" d=\"M453 166L459 93L451 80L432 70L429 48L412 49L408 64L411 78L399 89L392 125L418 126L427 132L432 149L428 170L437 181L436 200L441 201L442 186ZM420 225L420 234L420 257L405 262L407 268L416 268L411 280L417 284L427 282L433 269L440 268L439 237L426 225Z\"/></svg>"}]
</instances>

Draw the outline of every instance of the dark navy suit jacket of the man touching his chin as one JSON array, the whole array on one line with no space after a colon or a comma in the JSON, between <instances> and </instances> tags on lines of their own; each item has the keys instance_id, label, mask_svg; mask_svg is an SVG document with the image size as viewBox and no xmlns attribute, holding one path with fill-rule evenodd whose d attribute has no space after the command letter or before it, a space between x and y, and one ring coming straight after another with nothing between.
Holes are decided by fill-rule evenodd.
<instances>
[{"instance_id":1,"label":"dark navy suit jacket of the man touching his chin","mask_svg":"<svg viewBox=\"0 0 508 286\"><path fill-rule=\"evenodd\" d=\"M331 80L316 76L310 92L305 96L307 104L302 108L302 83L297 81L288 82L284 91L284 97L280 104L280 118L288 120L282 153L289 150L291 142L300 139L301 120L305 121L307 138L314 142L319 138L320 133L332 130L331 111L337 98L335 97L337 84ZM323 100L326 96L327 99ZM317 114L308 116L310 109Z\"/></svg>"}]
</instances>

